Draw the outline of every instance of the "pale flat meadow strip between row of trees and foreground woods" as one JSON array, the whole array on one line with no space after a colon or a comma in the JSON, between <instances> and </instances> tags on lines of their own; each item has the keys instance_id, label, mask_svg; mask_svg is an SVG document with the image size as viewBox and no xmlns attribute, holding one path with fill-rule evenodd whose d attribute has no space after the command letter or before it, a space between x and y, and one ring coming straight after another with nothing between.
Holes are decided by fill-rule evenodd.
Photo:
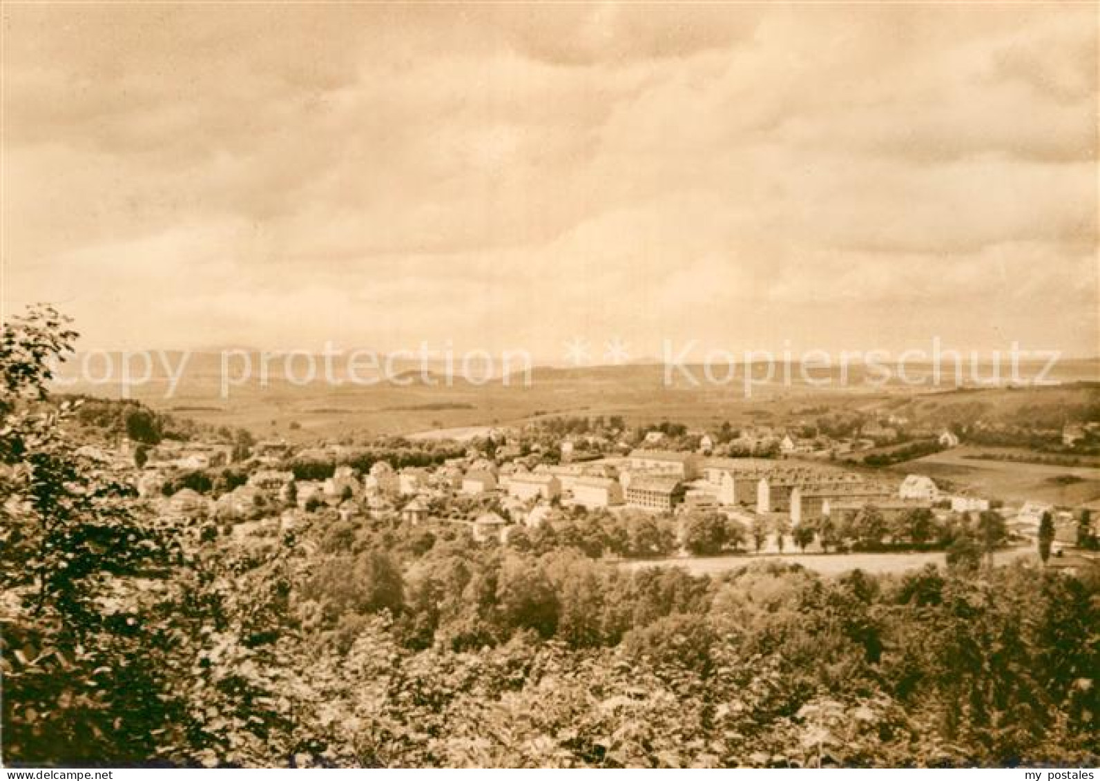
<instances>
[{"instance_id":1,"label":"pale flat meadow strip between row of trees and foreground woods","mask_svg":"<svg viewBox=\"0 0 1100 781\"><path fill-rule=\"evenodd\" d=\"M1011 561L1036 559L1031 547L1012 548L993 554L997 564ZM925 564L945 565L943 551L921 553L769 553L766 556L723 556L714 558L660 559L657 561L631 561L623 566L630 570L647 566L682 566L693 575L719 575L756 561L782 561L801 564L826 578L842 575L853 570L870 574L895 574L919 570Z\"/></svg>"}]
</instances>

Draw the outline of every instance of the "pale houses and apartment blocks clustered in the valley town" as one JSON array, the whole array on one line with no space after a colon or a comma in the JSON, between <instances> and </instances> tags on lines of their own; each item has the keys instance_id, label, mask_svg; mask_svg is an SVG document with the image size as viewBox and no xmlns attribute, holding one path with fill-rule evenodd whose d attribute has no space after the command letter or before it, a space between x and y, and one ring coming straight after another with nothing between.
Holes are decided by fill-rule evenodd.
<instances>
[{"instance_id":1,"label":"pale houses and apartment blocks clustered in the valley town","mask_svg":"<svg viewBox=\"0 0 1100 781\"><path fill-rule=\"evenodd\" d=\"M799 443L792 439L791 444ZM285 449L274 448L272 453L278 453L285 463ZM900 485L886 484L856 472L804 461L711 458L697 452L651 448L598 460L561 464L540 461L534 454L505 460L499 449L493 458L471 450L465 457L450 459L431 470L394 470L388 463L377 462L360 474L341 465L331 477L317 481L296 481L293 473L264 468L260 462L245 485L217 502L194 492L182 492L173 497L173 507L178 512L201 507L219 516L254 516L257 508L265 508L278 498L284 507L296 504L304 509L310 503L323 503L339 508L341 515L365 512L372 517L393 517L396 514L418 522L427 517L436 499L446 501L458 494L492 495L501 499L503 512L512 517L516 517L516 512L528 513L532 507L558 504L588 509L630 507L654 513L673 512L686 505L749 517L784 515L798 525L826 516L844 517L871 504L887 515L945 501L956 513L981 512L990 506L980 497L942 495L935 482L924 475L909 475ZM160 490L154 474L143 475L139 487L145 493ZM1020 517L1026 518L1027 513L1022 512Z\"/></svg>"}]
</instances>

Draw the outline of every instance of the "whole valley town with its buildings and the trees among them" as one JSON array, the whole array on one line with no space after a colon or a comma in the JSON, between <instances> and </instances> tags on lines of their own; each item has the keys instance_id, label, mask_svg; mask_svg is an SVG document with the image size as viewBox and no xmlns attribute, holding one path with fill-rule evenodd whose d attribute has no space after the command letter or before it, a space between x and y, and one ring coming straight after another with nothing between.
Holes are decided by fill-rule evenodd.
<instances>
[{"instance_id":1,"label":"whole valley town with its buildings and the trees among them","mask_svg":"<svg viewBox=\"0 0 1100 781\"><path fill-rule=\"evenodd\" d=\"M141 420L155 416L136 405L123 409ZM968 524L985 519L996 526L993 544L1034 552L1046 518L1052 565L1096 565L1098 501L1005 502L846 460L897 440L891 422L905 421L870 421L856 437L834 439L793 427L703 431L669 421L628 426L618 416L566 417L484 427L462 439L295 446L248 432L229 441L228 431L204 435L201 427L188 439L150 436L155 427L131 421L131 432L147 441L122 435L113 448L84 452L128 472L162 516L212 524L240 540L329 518L447 524L473 543L529 547L535 530L559 521L625 525L629 536L629 526L649 516L646 522L659 519L668 534L648 547L608 544L602 552L675 559L944 550ZM905 438L914 436L920 452L960 444L950 429ZM1100 426L1067 425L1062 437L1075 452L1090 453Z\"/></svg>"}]
</instances>

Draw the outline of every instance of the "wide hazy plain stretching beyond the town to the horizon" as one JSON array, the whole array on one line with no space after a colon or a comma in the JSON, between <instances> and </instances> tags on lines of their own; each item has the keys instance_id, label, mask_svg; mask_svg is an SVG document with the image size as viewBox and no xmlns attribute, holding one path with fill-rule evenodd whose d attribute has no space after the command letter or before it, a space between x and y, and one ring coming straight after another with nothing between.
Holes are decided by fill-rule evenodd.
<instances>
[{"instance_id":1,"label":"wide hazy plain stretching beyond the town to the horizon","mask_svg":"<svg viewBox=\"0 0 1100 781\"><path fill-rule=\"evenodd\" d=\"M675 420L690 427L716 427L728 420L788 425L813 420L826 413L903 415L928 426L978 416L1013 419L1020 416L1058 415L1082 405L1100 406L1100 385L1082 384L1100 376L1096 362L1067 363L1058 380L1066 385L1032 388L981 388L936 391L899 384L882 386L859 382L810 385L791 383L777 374L772 382L756 384L749 395L738 377L728 385L674 382L667 385L661 365L596 366L587 369L536 367L529 382L513 377L473 384L454 380L448 384L429 374L409 371L398 383L339 384L323 378L295 384L274 372L266 383L252 377L240 384L222 384L221 362L215 354L194 354L184 364L182 355L165 359L184 366L178 384L169 392L166 371L156 366L153 376L131 388L133 398L157 410L215 426L241 426L260 436L278 435L292 441L369 438L410 435L438 429L516 425L538 417L560 415L619 415L629 424ZM697 366L688 370L702 374ZM762 376L762 371L758 372ZM407 384L406 384L407 383ZM68 393L118 397L118 384L66 385ZM437 437L440 435L436 435Z\"/></svg>"}]
</instances>

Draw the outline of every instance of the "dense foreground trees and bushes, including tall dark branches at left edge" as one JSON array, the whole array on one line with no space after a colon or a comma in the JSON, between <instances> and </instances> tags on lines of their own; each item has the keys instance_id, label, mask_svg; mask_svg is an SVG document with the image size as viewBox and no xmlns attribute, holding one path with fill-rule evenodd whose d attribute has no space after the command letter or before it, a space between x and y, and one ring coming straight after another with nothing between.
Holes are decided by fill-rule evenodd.
<instances>
[{"instance_id":1,"label":"dense foreground trees and bushes, including tall dark branches at left edge","mask_svg":"<svg viewBox=\"0 0 1100 781\"><path fill-rule=\"evenodd\" d=\"M9 765L1096 763L1094 580L167 527L45 399L74 337L46 309L0 338Z\"/></svg>"}]
</instances>

